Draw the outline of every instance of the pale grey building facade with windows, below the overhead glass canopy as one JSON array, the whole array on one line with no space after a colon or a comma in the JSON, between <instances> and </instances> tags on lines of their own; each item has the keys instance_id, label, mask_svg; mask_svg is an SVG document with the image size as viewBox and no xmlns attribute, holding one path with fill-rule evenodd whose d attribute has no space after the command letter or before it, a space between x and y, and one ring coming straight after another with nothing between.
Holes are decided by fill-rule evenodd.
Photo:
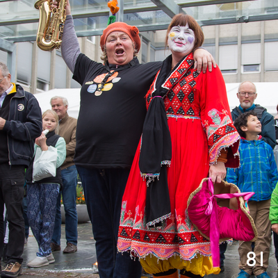
<instances>
[{"instance_id":1,"label":"pale grey building facade with windows, below the overhead glass canopy","mask_svg":"<svg viewBox=\"0 0 278 278\"><path fill-rule=\"evenodd\" d=\"M204 26L204 47L218 63L226 83L278 81L278 20ZM165 30L141 33L141 63L163 60ZM79 38L81 52L101 63L99 36ZM54 88L80 88L72 79L60 50L42 51L35 42L16 43L16 76L28 92L36 93ZM6 63L7 53L0 51Z\"/></svg>"}]
</instances>

